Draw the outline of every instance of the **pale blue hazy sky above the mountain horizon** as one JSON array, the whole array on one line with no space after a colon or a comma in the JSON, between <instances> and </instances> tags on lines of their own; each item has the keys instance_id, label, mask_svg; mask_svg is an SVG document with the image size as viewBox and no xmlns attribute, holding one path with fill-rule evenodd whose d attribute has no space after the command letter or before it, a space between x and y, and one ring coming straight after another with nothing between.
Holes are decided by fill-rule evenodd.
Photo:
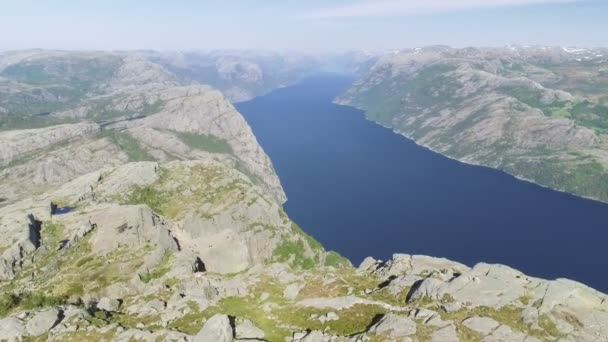
<instances>
[{"instance_id":1,"label":"pale blue hazy sky above the mountain horizon","mask_svg":"<svg viewBox=\"0 0 608 342\"><path fill-rule=\"evenodd\" d=\"M0 50L608 46L607 0L0 0Z\"/></svg>"}]
</instances>

